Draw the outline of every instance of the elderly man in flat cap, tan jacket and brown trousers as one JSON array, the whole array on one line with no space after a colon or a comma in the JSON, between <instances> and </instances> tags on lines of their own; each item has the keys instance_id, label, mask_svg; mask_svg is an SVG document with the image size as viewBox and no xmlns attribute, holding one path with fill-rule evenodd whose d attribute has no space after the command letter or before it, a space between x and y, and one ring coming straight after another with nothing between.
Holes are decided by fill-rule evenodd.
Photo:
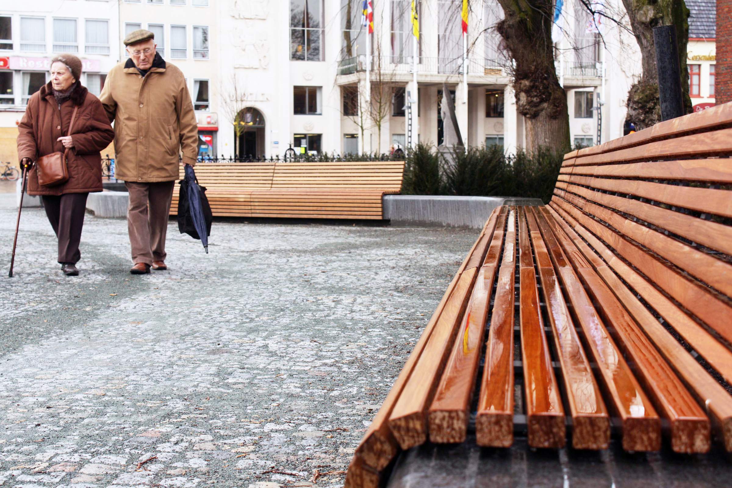
<instances>
[{"instance_id":1,"label":"elderly man in flat cap, tan jacket and brown trousers","mask_svg":"<svg viewBox=\"0 0 732 488\"><path fill-rule=\"evenodd\" d=\"M130 55L107 75L100 100L114 124L115 176L130 193L127 230L132 274L165 266L165 232L173 185L182 164L194 166L198 127L181 70L155 51L154 34L124 39Z\"/></svg>"}]
</instances>

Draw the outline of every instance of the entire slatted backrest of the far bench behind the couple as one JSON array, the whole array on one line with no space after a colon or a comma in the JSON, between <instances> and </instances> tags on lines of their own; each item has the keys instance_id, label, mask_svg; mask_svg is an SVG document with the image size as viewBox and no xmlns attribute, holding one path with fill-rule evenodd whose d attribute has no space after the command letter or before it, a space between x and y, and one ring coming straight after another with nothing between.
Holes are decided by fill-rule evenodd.
<instances>
[{"instance_id":1,"label":"entire slatted backrest of the far bench behind the couple","mask_svg":"<svg viewBox=\"0 0 732 488\"><path fill-rule=\"evenodd\" d=\"M195 167L199 183L209 189L364 189L401 191L404 162L209 163ZM180 177L184 173L181 168Z\"/></svg>"}]
</instances>

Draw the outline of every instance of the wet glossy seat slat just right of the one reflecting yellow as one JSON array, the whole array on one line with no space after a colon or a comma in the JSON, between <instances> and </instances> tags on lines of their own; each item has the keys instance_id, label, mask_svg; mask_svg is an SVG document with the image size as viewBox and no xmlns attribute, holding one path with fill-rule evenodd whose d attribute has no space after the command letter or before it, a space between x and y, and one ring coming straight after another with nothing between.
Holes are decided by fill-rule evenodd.
<instances>
[{"instance_id":1,"label":"wet glossy seat slat just right of the one reflecting yellow","mask_svg":"<svg viewBox=\"0 0 732 488\"><path fill-rule=\"evenodd\" d=\"M507 219L478 398L475 429L479 446L509 447L513 443L515 240L515 210L512 210Z\"/></svg>"}]
</instances>

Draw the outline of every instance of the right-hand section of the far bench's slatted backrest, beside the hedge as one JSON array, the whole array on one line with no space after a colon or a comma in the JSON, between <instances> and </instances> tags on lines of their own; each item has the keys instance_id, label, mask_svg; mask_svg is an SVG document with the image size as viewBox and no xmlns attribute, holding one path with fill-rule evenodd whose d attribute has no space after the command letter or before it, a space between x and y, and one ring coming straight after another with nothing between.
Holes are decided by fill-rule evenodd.
<instances>
[{"instance_id":1,"label":"right-hand section of the far bench's slatted backrest, beside the hedge","mask_svg":"<svg viewBox=\"0 0 732 488\"><path fill-rule=\"evenodd\" d=\"M278 162L273 189L365 189L398 193L404 162Z\"/></svg>"}]
</instances>

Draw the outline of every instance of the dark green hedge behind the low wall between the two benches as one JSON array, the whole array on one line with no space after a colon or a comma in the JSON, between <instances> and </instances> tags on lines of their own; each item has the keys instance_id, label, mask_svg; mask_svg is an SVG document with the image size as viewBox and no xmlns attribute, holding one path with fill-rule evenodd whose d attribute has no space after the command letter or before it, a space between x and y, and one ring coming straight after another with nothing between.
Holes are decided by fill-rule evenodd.
<instances>
[{"instance_id":1,"label":"dark green hedge behind the low wall between the two benches","mask_svg":"<svg viewBox=\"0 0 732 488\"><path fill-rule=\"evenodd\" d=\"M418 144L404 168L404 195L462 195L541 198L545 203L559 175L564 152L519 150L508 157L502 146L452 150L452 162Z\"/></svg>"}]
</instances>

